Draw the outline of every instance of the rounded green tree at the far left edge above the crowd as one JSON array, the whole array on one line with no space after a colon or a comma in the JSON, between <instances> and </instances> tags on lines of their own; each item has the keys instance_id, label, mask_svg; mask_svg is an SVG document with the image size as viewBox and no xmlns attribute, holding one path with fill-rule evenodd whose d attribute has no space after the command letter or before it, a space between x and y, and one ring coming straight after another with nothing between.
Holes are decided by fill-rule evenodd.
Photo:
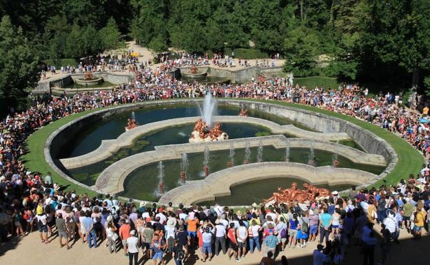
<instances>
[{"instance_id":1,"label":"rounded green tree at the far left edge above the crowd","mask_svg":"<svg viewBox=\"0 0 430 265\"><path fill-rule=\"evenodd\" d=\"M28 93L39 81L39 58L34 55L32 43L21 28L10 22L8 16L0 23L0 100L3 112L11 107L25 109Z\"/></svg>"}]
</instances>

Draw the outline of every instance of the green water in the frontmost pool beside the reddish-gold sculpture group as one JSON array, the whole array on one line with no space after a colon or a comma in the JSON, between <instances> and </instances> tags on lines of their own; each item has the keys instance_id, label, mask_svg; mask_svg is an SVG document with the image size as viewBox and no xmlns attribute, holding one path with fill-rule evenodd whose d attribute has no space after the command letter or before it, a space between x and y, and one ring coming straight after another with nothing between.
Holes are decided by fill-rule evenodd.
<instances>
[{"instance_id":1,"label":"green water in the frontmost pool beside the reddish-gold sculpture group","mask_svg":"<svg viewBox=\"0 0 430 265\"><path fill-rule=\"evenodd\" d=\"M229 196L216 197L215 200L199 202L199 205L214 205L218 203L223 206L232 205L250 205L254 202L257 204L263 200L270 198L272 194L278 190L278 187L287 189L291 187L292 182L297 182L298 189L303 189L303 180L299 180L291 176L291 178L268 177L265 180L256 180L246 182L238 186L230 187L232 192ZM327 184L316 185L318 188L329 189L330 191L342 191L349 189L351 186L336 185L329 186Z\"/></svg>"}]
</instances>

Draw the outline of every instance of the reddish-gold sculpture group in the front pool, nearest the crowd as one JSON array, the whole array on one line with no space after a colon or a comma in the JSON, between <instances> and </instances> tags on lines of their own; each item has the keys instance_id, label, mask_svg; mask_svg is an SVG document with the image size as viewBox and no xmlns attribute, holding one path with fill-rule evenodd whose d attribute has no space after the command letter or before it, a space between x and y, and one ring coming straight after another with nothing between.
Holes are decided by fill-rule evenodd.
<instances>
[{"instance_id":1,"label":"reddish-gold sculpture group in the front pool, nearest the crowd","mask_svg":"<svg viewBox=\"0 0 430 265\"><path fill-rule=\"evenodd\" d=\"M265 203L274 202L276 204L283 202L305 202L306 200L314 200L318 197L327 197L330 194L328 189L318 188L314 185L304 183L305 189L297 189L297 183L291 183L291 188L282 189L278 187L278 192L274 192L272 197L264 200Z\"/></svg>"}]
</instances>

